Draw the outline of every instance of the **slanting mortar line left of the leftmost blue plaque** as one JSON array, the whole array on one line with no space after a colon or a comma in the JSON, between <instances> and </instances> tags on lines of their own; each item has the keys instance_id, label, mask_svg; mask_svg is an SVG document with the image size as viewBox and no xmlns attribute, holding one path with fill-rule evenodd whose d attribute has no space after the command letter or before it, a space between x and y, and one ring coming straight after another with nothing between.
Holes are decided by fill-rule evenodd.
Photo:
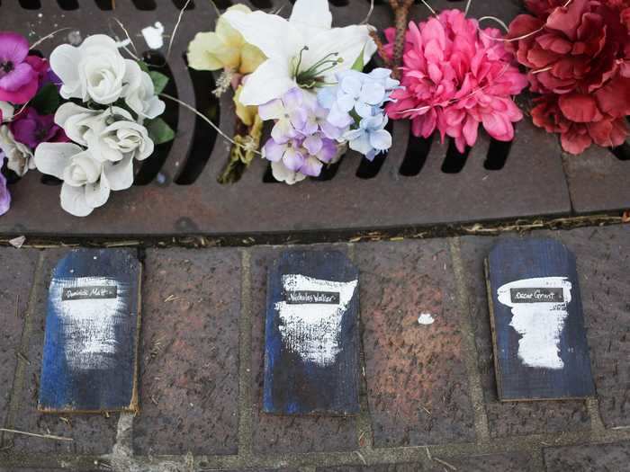
<instances>
[{"instance_id":1,"label":"slanting mortar line left of the leftmost blue plaque","mask_svg":"<svg viewBox=\"0 0 630 472\"><path fill-rule=\"evenodd\" d=\"M35 309L37 293L40 289L40 282L43 278L42 270L44 267L44 259L45 255L42 251L37 260L37 267L32 278L31 290L29 292L29 302L26 307L26 313L24 314L22 337L20 338L19 347L20 352L22 353L28 351L29 342L31 340L33 311ZM11 400L9 401L8 413L6 414L5 426L7 428L11 428L12 426L14 426L17 412L20 409L20 393L22 392L22 388L24 385L24 374L26 370L26 365L28 362L30 362L26 358L18 356L17 352L15 352L15 354L17 357L17 362L15 363L14 384L11 389ZM4 434L2 437L0 437L0 445L4 447Z\"/></svg>"}]
</instances>

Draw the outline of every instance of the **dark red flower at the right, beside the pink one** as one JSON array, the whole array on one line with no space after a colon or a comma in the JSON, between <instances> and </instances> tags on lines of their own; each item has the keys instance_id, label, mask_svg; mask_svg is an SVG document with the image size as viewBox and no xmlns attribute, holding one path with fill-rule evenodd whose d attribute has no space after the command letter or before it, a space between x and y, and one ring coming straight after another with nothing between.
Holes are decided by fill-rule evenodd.
<instances>
[{"instance_id":1,"label":"dark red flower at the right, beside the pink one","mask_svg":"<svg viewBox=\"0 0 630 472\"><path fill-rule=\"evenodd\" d=\"M537 126L572 153L619 146L630 114L630 0L527 0L534 15L509 25L508 49L526 66Z\"/></svg>"}]
</instances>

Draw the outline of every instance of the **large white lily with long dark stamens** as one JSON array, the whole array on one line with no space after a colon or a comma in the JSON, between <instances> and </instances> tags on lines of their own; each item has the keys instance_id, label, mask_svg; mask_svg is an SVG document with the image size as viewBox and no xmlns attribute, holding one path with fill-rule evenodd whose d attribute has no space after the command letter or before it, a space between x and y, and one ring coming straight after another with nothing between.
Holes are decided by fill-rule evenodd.
<instances>
[{"instance_id":1,"label":"large white lily with long dark stamens","mask_svg":"<svg viewBox=\"0 0 630 472\"><path fill-rule=\"evenodd\" d=\"M267 57L243 86L244 105L262 105L295 86L334 83L335 74L350 69L362 53L367 63L376 51L369 26L331 28L327 0L297 0L289 20L260 11L223 17Z\"/></svg>"}]
</instances>

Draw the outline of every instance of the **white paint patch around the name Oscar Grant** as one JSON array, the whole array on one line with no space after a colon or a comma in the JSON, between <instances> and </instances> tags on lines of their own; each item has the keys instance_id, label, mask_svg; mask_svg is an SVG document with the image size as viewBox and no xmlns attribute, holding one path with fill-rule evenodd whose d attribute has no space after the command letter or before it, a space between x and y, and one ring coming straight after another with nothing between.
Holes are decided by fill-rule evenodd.
<instances>
[{"instance_id":1,"label":"white paint patch around the name Oscar Grant","mask_svg":"<svg viewBox=\"0 0 630 472\"><path fill-rule=\"evenodd\" d=\"M560 336L569 316L572 284L566 277L539 277L513 281L497 290L501 304L512 309L518 340L518 358L529 367L560 370Z\"/></svg>"}]
</instances>

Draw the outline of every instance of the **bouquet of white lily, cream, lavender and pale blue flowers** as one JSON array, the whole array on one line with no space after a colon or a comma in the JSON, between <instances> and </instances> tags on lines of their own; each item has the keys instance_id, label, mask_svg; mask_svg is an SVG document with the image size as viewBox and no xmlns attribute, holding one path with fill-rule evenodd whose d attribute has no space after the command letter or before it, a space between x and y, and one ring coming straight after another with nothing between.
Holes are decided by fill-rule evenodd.
<instances>
[{"instance_id":1,"label":"bouquet of white lily, cream, lavender and pale blue flowers","mask_svg":"<svg viewBox=\"0 0 630 472\"><path fill-rule=\"evenodd\" d=\"M326 0L297 0L288 20L236 5L216 31L198 34L190 66L223 70L217 92L234 89L245 125L237 129L247 129L232 140L228 169L260 154L276 180L292 184L320 175L347 147L370 160L386 152L392 136L384 106L400 83L389 69L364 71L376 51L370 32L367 25L333 28ZM273 129L258 152L265 121Z\"/></svg>"}]
</instances>

